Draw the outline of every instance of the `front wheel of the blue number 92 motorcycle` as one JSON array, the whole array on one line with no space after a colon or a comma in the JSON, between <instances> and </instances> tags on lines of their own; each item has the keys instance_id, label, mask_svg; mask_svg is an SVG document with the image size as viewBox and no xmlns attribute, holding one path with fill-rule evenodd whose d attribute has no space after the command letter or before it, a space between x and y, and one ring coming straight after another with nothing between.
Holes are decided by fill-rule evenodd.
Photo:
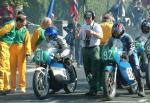
<instances>
[{"instance_id":1,"label":"front wheel of the blue number 92 motorcycle","mask_svg":"<svg viewBox=\"0 0 150 103\"><path fill-rule=\"evenodd\" d=\"M105 71L103 93L107 100L112 100L116 95L116 82L114 82L114 72Z\"/></svg>"}]
</instances>

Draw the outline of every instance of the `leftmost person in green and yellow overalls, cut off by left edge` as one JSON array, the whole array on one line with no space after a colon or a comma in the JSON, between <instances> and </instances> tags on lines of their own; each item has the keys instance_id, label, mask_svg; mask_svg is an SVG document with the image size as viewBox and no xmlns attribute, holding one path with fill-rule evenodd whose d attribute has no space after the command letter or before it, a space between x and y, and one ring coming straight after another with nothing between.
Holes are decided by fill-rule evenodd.
<instances>
[{"instance_id":1,"label":"leftmost person in green and yellow overalls, cut off by left edge","mask_svg":"<svg viewBox=\"0 0 150 103\"><path fill-rule=\"evenodd\" d=\"M16 25L23 26L22 16L16 16L15 20L7 22L0 28L0 95L5 95L10 91L10 53L9 47L13 43L16 35Z\"/></svg>"}]
</instances>

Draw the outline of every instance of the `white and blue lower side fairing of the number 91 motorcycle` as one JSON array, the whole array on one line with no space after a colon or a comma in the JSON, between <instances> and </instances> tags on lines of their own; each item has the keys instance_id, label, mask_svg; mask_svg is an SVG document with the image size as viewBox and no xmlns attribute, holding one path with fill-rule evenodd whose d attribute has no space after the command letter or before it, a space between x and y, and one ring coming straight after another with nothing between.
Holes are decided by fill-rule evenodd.
<instances>
[{"instance_id":1,"label":"white and blue lower side fairing of the number 91 motorcycle","mask_svg":"<svg viewBox=\"0 0 150 103\"><path fill-rule=\"evenodd\" d=\"M55 79L59 83L65 83L70 80L69 73L65 69L64 65L59 62L54 62L51 64L51 69L53 71Z\"/></svg>"}]
</instances>

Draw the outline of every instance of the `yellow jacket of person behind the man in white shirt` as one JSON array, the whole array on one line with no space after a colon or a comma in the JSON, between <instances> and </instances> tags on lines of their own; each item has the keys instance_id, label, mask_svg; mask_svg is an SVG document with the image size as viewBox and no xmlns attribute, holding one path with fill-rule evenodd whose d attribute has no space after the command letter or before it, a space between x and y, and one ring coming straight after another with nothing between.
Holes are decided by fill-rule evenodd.
<instances>
[{"instance_id":1,"label":"yellow jacket of person behind the man in white shirt","mask_svg":"<svg viewBox=\"0 0 150 103\"><path fill-rule=\"evenodd\" d=\"M103 30L103 38L101 39L101 44L104 45L107 43L109 38L112 35L112 22L102 22L101 24L102 30Z\"/></svg>"}]
</instances>

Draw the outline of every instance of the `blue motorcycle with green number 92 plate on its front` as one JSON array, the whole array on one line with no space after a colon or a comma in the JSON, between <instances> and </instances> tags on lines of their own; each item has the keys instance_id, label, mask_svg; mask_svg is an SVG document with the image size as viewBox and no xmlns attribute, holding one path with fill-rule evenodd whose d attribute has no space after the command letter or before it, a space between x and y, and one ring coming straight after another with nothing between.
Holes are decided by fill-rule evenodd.
<instances>
[{"instance_id":1,"label":"blue motorcycle with green number 92 plate on its front","mask_svg":"<svg viewBox=\"0 0 150 103\"><path fill-rule=\"evenodd\" d=\"M102 61L104 63L104 85L103 93L108 100L112 100L117 91L117 84L128 90L129 93L137 92L137 81L132 72L131 65L126 57L121 56L121 49L105 45L102 50Z\"/></svg>"}]
</instances>

